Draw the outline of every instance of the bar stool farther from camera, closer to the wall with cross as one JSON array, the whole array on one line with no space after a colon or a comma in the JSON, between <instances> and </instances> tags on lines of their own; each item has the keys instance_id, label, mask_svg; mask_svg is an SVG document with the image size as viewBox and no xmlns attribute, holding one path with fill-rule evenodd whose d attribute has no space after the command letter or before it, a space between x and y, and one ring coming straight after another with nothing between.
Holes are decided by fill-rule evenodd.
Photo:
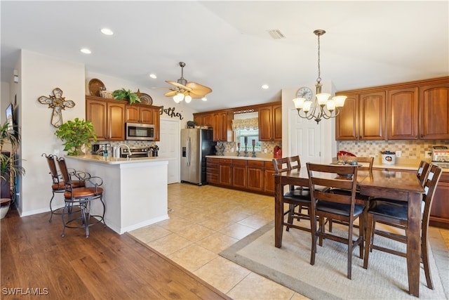
<instances>
[{"instance_id":1,"label":"bar stool farther from camera, closer to the wall with cross","mask_svg":"<svg viewBox=\"0 0 449 300\"><path fill-rule=\"evenodd\" d=\"M47 164L48 164L48 169L50 169L50 175L52 178L52 184L51 184L51 191L53 193L53 195L51 196L50 199L50 219L48 219L48 222L51 222L51 220L53 219L53 214L61 214L60 210L62 209L62 207L60 207L59 209L53 209L52 207L52 203L53 203L53 199L55 197L55 193L64 193L65 192L65 182L62 179L61 174L58 172L58 169L56 168L56 163L55 163L55 159L57 159L57 157L55 157L55 155L46 155L46 153L42 153L41 156L45 156L46 160L47 160ZM80 188L81 186L84 186L84 180L87 176L90 176L88 173L86 172L77 172L74 169L67 169L67 171L69 172L69 176L75 177L75 180L72 180L72 185L74 188Z\"/></svg>"}]
</instances>

